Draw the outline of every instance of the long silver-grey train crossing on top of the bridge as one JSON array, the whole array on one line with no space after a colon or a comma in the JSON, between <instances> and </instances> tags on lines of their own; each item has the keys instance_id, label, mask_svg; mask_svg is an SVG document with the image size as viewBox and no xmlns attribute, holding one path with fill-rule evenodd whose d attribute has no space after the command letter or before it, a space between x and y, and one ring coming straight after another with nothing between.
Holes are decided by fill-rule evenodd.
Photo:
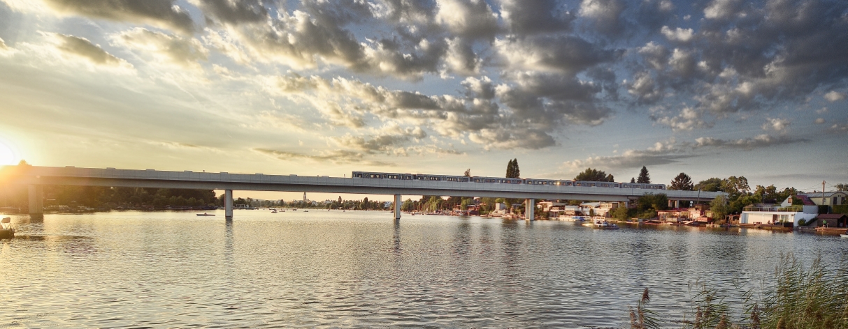
<instances>
[{"instance_id":1,"label":"long silver-grey train crossing on top of the bridge","mask_svg":"<svg viewBox=\"0 0 848 329\"><path fill-rule=\"evenodd\" d=\"M536 179L536 178L502 178L481 176L450 176L431 175L424 173L372 173L354 172L352 178L371 179L399 179L399 180L426 180L431 182L455 182L455 183L490 183L490 184L530 184L530 185L555 185L555 186L583 186L613 189L666 189L666 184L641 184L641 183L616 183L616 182L588 182L568 179Z\"/></svg>"}]
</instances>

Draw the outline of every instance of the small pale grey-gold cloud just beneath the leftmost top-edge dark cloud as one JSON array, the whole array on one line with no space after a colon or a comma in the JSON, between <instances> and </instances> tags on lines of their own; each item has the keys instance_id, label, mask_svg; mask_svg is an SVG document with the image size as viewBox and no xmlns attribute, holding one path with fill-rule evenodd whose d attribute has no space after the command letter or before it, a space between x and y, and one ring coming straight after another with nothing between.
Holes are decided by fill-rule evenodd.
<instances>
[{"instance_id":1,"label":"small pale grey-gold cloud just beneath the leftmost top-edge dark cloud","mask_svg":"<svg viewBox=\"0 0 848 329\"><path fill-rule=\"evenodd\" d=\"M197 39L140 27L120 32L113 36L113 40L122 46L148 52L154 58L184 68L198 68L198 61L205 61L209 57L209 50Z\"/></svg>"}]
</instances>

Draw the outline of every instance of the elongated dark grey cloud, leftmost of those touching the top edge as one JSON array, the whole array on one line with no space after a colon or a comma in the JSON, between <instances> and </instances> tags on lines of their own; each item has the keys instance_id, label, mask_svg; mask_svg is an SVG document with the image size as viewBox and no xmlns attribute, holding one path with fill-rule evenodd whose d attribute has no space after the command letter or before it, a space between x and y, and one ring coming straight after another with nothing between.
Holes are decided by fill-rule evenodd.
<instances>
[{"instance_id":1,"label":"elongated dark grey cloud, leftmost of those touching the top edge","mask_svg":"<svg viewBox=\"0 0 848 329\"><path fill-rule=\"evenodd\" d=\"M191 16L174 0L42 0L62 14L148 24L191 34Z\"/></svg>"}]
</instances>

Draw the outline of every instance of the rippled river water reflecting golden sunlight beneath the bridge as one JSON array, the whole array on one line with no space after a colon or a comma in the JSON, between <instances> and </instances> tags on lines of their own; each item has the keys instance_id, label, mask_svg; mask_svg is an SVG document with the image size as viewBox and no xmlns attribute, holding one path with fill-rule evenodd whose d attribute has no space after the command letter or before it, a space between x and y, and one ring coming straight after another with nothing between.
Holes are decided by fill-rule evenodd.
<instances>
[{"instance_id":1,"label":"rippled river water reflecting golden sunlight beneath the bridge","mask_svg":"<svg viewBox=\"0 0 848 329\"><path fill-rule=\"evenodd\" d=\"M652 309L679 314L692 282L738 292L782 253L848 253L839 237L760 230L215 213L14 217L0 327L625 326L646 287Z\"/></svg>"}]
</instances>

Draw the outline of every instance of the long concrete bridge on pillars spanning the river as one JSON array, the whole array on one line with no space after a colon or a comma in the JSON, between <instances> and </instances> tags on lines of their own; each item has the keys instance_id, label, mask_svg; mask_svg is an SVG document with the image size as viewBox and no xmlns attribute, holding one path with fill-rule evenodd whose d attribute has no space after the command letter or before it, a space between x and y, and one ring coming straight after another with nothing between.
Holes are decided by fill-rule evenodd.
<instances>
[{"instance_id":1,"label":"long concrete bridge on pillars spanning the river","mask_svg":"<svg viewBox=\"0 0 848 329\"><path fill-rule=\"evenodd\" d=\"M394 218L400 218L402 195L449 195L525 199L527 218L533 218L534 200L605 200L629 202L650 193L664 193L670 203L711 200L722 192L666 189L620 189L585 186L459 183L327 176L266 175L263 173L196 173L153 169L83 167L0 167L0 182L29 186L29 213L43 214L43 185L82 185L158 189L223 189L225 216L232 218L232 191L323 192L394 195Z\"/></svg>"}]
</instances>

